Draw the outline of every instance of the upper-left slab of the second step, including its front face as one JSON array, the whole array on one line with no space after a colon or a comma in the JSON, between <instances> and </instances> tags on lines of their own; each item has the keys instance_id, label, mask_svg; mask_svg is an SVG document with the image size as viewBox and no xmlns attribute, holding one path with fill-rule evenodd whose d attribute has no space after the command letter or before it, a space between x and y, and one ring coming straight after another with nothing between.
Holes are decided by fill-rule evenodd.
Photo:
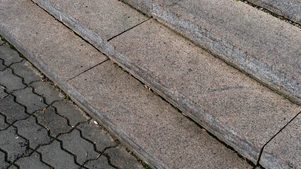
<instances>
[{"instance_id":1,"label":"upper-left slab of the second step, including its front face","mask_svg":"<svg viewBox=\"0 0 301 169\"><path fill-rule=\"evenodd\" d=\"M34 2L103 52L107 40L148 19L118 0Z\"/></svg>"}]
</instances>

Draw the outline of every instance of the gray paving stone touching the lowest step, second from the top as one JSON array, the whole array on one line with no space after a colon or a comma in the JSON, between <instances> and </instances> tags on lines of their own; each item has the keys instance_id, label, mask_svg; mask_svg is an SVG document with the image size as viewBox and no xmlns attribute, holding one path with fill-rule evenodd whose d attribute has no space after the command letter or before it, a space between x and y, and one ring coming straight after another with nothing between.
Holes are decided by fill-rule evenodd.
<instances>
[{"instance_id":1,"label":"gray paving stone touching the lowest step, second from the top","mask_svg":"<svg viewBox=\"0 0 301 169\"><path fill-rule=\"evenodd\" d=\"M16 75L23 77L26 84L43 78L43 75L26 60L14 63L11 68Z\"/></svg>"}]
</instances>

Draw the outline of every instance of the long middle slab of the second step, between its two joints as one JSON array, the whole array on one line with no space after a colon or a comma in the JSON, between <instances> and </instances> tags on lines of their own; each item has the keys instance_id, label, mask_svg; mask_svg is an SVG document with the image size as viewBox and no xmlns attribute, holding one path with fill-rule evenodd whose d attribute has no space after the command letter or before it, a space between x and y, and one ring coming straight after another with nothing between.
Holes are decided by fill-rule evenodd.
<instances>
[{"instance_id":1,"label":"long middle slab of the second step, between its two joints","mask_svg":"<svg viewBox=\"0 0 301 169\"><path fill-rule=\"evenodd\" d=\"M254 163L301 111L154 20L109 43L119 65Z\"/></svg>"}]
</instances>

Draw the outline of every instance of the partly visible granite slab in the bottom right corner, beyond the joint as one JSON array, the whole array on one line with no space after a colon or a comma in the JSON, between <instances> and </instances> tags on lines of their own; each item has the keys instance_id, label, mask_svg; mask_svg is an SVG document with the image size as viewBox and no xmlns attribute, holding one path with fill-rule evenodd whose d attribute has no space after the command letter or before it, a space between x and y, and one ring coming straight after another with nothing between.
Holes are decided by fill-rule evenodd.
<instances>
[{"instance_id":1,"label":"partly visible granite slab in the bottom right corner, beyond the joint","mask_svg":"<svg viewBox=\"0 0 301 169\"><path fill-rule=\"evenodd\" d=\"M301 168L301 114L294 118L263 149L265 168Z\"/></svg>"}]
</instances>

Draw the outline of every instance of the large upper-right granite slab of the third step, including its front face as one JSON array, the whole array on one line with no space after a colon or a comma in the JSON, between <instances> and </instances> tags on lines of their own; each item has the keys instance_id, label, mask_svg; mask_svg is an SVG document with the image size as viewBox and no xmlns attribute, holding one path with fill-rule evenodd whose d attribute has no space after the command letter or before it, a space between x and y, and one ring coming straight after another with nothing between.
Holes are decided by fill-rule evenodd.
<instances>
[{"instance_id":1,"label":"large upper-right granite slab of the third step, including its front face","mask_svg":"<svg viewBox=\"0 0 301 169\"><path fill-rule=\"evenodd\" d=\"M153 16L301 103L301 29L240 1L155 0Z\"/></svg>"}]
</instances>

